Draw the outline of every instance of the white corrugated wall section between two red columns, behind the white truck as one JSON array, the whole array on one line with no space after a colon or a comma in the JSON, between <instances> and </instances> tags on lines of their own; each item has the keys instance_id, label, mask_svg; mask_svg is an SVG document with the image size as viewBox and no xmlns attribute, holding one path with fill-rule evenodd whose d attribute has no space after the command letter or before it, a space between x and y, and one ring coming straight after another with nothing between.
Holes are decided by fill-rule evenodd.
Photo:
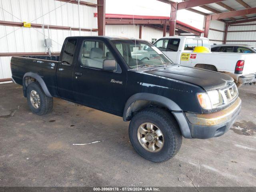
<instances>
[{"instance_id":1,"label":"white corrugated wall section between two red columns, behind the white truck","mask_svg":"<svg viewBox=\"0 0 256 192\"><path fill-rule=\"evenodd\" d=\"M225 30L225 23L217 20L211 21L210 28L212 29L217 29L217 30ZM208 38L211 40L221 40L223 41L224 39L224 32L219 32L219 31L214 31L210 30ZM210 41L211 44L222 44L220 41Z\"/></svg>"}]
</instances>

